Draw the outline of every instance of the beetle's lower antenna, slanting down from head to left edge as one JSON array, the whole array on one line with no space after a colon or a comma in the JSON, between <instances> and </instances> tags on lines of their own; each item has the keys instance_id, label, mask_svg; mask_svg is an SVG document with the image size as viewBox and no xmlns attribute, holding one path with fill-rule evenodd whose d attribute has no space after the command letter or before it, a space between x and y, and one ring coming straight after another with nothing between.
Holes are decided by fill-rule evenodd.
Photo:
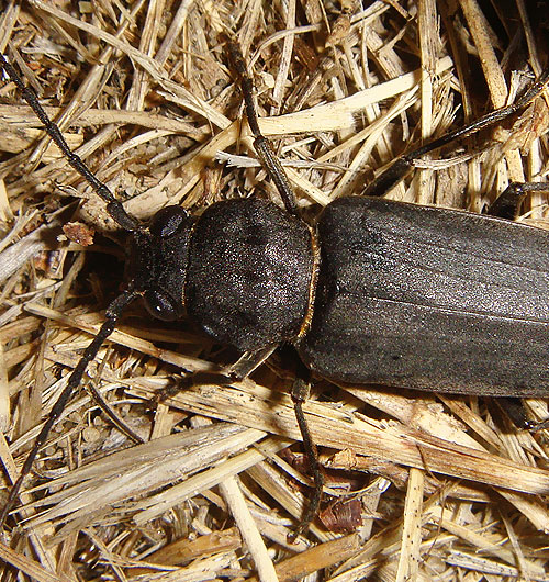
<instances>
[{"instance_id":1,"label":"beetle's lower antenna, slanting down from head to left edge","mask_svg":"<svg viewBox=\"0 0 549 582\"><path fill-rule=\"evenodd\" d=\"M21 473L18 480L11 488L10 494L8 496L8 501L5 502L0 513L0 528L3 526L3 523L5 522L8 514L13 507L15 500L19 497L21 485L23 484L25 477L31 472L36 455L38 454L40 449L46 441L49 430L52 430L52 427L54 426L54 424L57 422L63 411L65 410L65 406L70 395L72 394L75 389L80 384L83 372L86 371L86 368L88 368L88 365L90 363L90 361L92 361L96 358L103 342L114 331L116 322L120 315L122 314L122 312L137 296L138 296L137 291L133 289L126 290L121 295L119 295L114 301L112 301L111 304L107 307L105 321L101 325L99 333L93 338L91 344L86 348L82 357L80 358L80 361L77 363L76 368L72 370L72 373L69 376L67 385L63 390L60 396L57 399L57 402L54 404L54 407L52 408L52 412L49 413L47 421L45 422L44 426L38 433L38 436L36 437L36 440L34 441L31 452L29 454L29 456L25 459L25 462L23 463L23 468L21 469Z\"/></svg>"}]
</instances>

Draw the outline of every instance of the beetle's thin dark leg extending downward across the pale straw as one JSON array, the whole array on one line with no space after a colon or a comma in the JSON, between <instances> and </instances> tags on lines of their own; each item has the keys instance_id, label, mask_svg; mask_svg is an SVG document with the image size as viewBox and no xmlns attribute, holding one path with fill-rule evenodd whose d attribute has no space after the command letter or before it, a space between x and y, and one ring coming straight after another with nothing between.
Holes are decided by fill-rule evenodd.
<instances>
[{"instance_id":1,"label":"beetle's thin dark leg extending downward across the pale straw","mask_svg":"<svg viewBox=\"0 0 549 582\"><path fill-rule=\"evenodd\" d=\"M298 418L298 426L300 427L301 437L303 439L303 449L305 451L305 458L309 463L309 470L313 473L314 490L313 496L307 501L307 505L300 523L295 530L288 536L288 541L293 544L295 538L304 534L309 528L309 525L314 519L318 512L318 506L322 501L322 489L324 486L324 477L322 474L321 463L318 461L318 452L316 445L311 436L309 424L305 415L303 414L303 403L309 398L309 382L302 378L296 377L292 387L292 401L295 411L295 417Z\"/></svg>"}]
</instances>

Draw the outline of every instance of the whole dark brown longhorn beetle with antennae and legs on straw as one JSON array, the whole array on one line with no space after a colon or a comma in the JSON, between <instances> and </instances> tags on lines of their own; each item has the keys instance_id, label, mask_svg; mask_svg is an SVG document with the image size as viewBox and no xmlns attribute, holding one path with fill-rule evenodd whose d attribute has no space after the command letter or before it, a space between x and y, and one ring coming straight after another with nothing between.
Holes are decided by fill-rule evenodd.
<instances>
[{"instance_id":1,"label":"whole dark brown longhorn beetle with antennae and legs on straw","mask_svg":"<svg viewBox=\"0 0 549 582\"><path fill-rule=\"evenodd\" d=\"M139 224L68 147L12 65L0 65L69 164L132 236L126 289L70 374L0 514L24 478L89 362L130 303L141 298L163 321L189 317L217 342L246 352L246 376L266 351L291 343L314 373L358 383L475 395L546 395L549 239L512 222L522 199L547 184L511 184L486 215L416 206L383 195L425 154L514 114L546 86L549 71L514 104L397 158L363 192L330 203L315 224L299 215L288 178L261 134L253 83L232 48L258 157L285 209L261 199L219 202L199 216L166 206ZM518 339L518 340L517 340ZM527 370L527 371L525 371ZM302 412L292 398L315 479L298 531L316 513L323 478Z\"/></svg>"}]
</instances>

